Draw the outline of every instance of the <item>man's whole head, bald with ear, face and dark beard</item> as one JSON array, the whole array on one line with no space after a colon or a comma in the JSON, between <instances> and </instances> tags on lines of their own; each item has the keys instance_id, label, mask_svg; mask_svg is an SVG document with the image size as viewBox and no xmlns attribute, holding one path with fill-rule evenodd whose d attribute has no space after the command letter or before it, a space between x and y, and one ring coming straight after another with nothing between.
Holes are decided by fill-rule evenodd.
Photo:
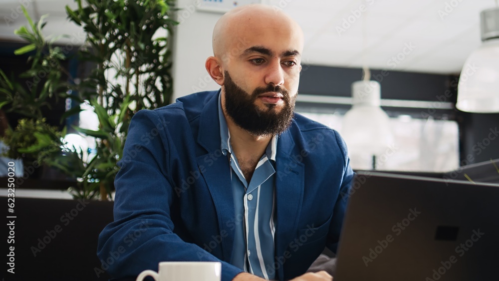
<instances>
[{"instance_id":1,"label":"man's whole head, bald with ear, face and dark beard","mask_svg":"<svg viewBox=\"0 0 499 281\"><path fill-rule=\"evenodd\" d=\"M214 56L207 58L205 66L222 86L229 130L237 126L269 141L269 136L288 128L298 94L302 51L301 28L270 6L242 6L219 19L213 31Z\"/></svg>"}]
</instances>

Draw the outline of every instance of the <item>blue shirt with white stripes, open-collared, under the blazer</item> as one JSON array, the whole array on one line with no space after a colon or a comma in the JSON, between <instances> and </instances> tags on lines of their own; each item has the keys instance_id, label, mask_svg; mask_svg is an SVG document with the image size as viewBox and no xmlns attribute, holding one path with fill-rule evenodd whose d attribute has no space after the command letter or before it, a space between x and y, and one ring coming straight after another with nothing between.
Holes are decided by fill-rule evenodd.
<instances>
[{"instance_id":1,"label":"blue shirt with white stripes, open-collared, under the blazer","mask_svg":"<svg viewBox=\"0 0 499 281\"><path fill-rule=\"evenodd\" d=\"M266 280L275 278L274 270L274 174L277 137L273 136L256 165L250 182L245 179L232 153L231 134L222 111L219 95L219 120L222 152L231 163L234 194L235 238L231 264Z\"/></svg>"}]
</instances>

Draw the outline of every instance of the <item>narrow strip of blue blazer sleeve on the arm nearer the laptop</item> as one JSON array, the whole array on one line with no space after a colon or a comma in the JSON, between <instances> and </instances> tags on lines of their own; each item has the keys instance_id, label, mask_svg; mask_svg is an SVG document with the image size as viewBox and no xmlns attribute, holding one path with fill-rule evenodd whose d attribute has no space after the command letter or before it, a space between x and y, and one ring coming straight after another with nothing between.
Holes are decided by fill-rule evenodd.
<instances>
[{"instance_id":1,"label":"narrow strip of blue blazer sleeve on the arm nearer the laptop","mask_svg":"<svg viewBox=\"0 0 499 281\"><path fill-rule=\"evenodd\" d=\"M346 205L349 197L350 188L352 185L352 180L354 177L354 172L350 167L350 158L348 157L348 151L345 142L338 134L334 132L336 137L336 142L343 156L343 176L341 179L341 185L339 187L338 198L334 205L333 217L331 220L328 244L326 245L329 250L333 253L337 252L338 241L340 238L341 227L343 225L343 219L345 217Z\"/></svg>"}]
</instances>

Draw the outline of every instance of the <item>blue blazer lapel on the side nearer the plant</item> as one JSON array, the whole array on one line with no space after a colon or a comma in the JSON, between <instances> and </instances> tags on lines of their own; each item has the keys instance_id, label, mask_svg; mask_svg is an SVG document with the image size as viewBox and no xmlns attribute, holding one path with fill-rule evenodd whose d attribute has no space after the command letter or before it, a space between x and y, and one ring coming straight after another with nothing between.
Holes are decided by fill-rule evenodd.
<instances>
[{"instance_id":1,"label":"blue blazer lapel on the side nearer the plant","mask_svg":"<svg viewBox=\"0 0 499 281\"><path fill-rule=\"evenodd\" d=\"M208 153L198 156L198 166L208 185L213 204L217 210L219 231L223 238L221 243L223 260L230 262L235 234L234 229L228 226L231 225L231 222L234 222L235 210L230 165L221 150L218 94L215 94L207 102L200 118L198 143Z\"/></svg>"}]
</instances>

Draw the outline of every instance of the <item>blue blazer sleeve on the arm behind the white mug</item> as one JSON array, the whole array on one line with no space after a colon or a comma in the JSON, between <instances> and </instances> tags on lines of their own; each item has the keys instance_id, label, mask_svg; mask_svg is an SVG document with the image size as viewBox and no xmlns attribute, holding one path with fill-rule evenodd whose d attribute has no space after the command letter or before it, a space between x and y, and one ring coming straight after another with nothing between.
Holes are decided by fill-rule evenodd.
<instances>
[{"instance_id":1,"label":"blue blazer sleeve on the arm behind the white mug","mask_svg":"<svg viewBox=\"0 0 499 281\"><path fill-rule=\"evenodd\" d=\"M115 179L114 222L98 240L102 269L124 279L157 271L164 261L216 261L222 263L222 281L231 281L243 271L173 232L170 206L176 194L165 123L151 110L141 110L131 120Z\"/></svg>"}]
</instances>

